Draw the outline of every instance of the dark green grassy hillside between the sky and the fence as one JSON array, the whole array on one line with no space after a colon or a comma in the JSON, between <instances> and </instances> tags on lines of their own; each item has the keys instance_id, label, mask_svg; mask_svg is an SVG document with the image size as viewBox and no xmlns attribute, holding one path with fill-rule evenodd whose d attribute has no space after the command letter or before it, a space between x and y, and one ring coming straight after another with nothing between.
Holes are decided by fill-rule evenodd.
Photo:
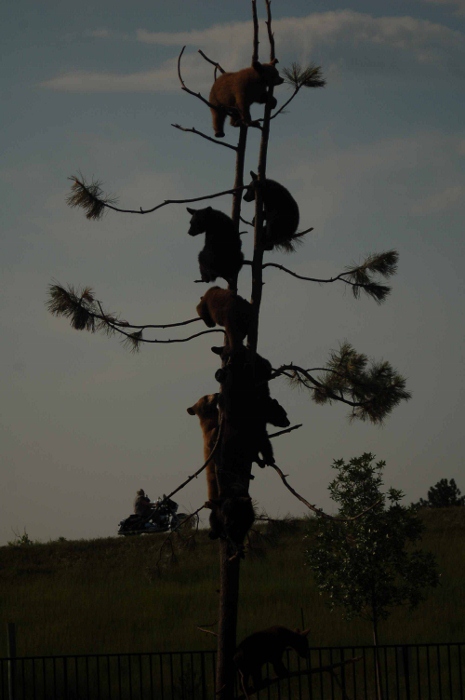
<instances>
[{"instance_id":1,"label":"dark green grassy hillside between the sky and the fence","mask_svg":"<svg viewBox=\"0 0 465 700\"><path fill-rule=\"evenodd\" d=\"M423 547L441 585L414 613L396 611L381 642L465 640L465 508L423 511ZM371 643L360 621L329 613L305 568L301 521L269 544L254 538L242 565L239 639L272 624L311 626L311 644ZM0 620L17 625L19 655L214 648L197 629L217 620L218 547L205 531L195 546L165 535L52 542L0 548ZM157 566L157 563L159 564ZM214 629L214 628L213 628ZM6 655L6 633L0 656Z\"/></svg>"}]
</instances>

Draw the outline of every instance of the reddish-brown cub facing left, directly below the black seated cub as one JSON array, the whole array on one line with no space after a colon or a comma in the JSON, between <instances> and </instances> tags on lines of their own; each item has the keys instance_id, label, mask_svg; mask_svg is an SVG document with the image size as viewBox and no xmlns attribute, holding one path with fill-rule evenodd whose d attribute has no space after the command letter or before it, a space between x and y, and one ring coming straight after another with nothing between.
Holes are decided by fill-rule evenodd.
<instances>
[{"instance_id":1,"label":"reddish-brown cub facing left, directly below the black seated cub","mask_svg":"<svg viewBox=\"0 0 465 700\"><path fill-rule=\"evenodd\" d=\"M224 326L228 352L233 354L242 347L249 331L252 306L230 289L210 287L197 304L197 313L209 328Z\"/></svg>"}]
</instances>

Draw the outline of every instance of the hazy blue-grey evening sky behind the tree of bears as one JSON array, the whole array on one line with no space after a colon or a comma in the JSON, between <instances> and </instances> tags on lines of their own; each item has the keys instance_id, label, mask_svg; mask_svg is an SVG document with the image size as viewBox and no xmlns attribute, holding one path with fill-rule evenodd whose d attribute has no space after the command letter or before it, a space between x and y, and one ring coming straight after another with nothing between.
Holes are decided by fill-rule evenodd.
<instances>
[{"instance_id":1,"label":"hazy blue-grey evening sky behind the tree of bears","mask_svg":"<svg viewBox=\"0 0 465 700\"><path fill-rule=\"evenodd\" d=\"M317 277L393 248L400 263L382 306L268 269L260 352L274 367L312 367L348 340L389 360L413 393L379 428L275 381L273 396L303 423L274 442L277 463L329 510L333 459L366 451L386 460L386 486L406 502L443 477L465 491L465 2L274 0L272 9L279 67L316 62L328 84L303 90L273 121L268 174L314 231L293 256L269 260ZM53 281L91 286L133 323L192 318L205 289L194 284L202 242L187 236L185 205L89 222L66 206L67 178L94 176L135 209L231 187L233 152L172 127L212 133L208 108L180 90L176 61L186 45L184 79L204 96L212 66L198 49L228 70L249 65L250 4L7 0L2 12L0 544L24 530L41 540L113 535L136 489L155 498L200 466L186 408L217 390L218 339L133 355L47 312ZM268 60L263 23L260 47ZM289 90L276 90L280 103ZM227 126L225 141L236 139ZM258 143L250 133L247 171ZM229 197L215 201L230 211ZM243 245L250 258L250 234ZM240 293L250 286L244 268ZM304 512L272 470L255 472L260 507ZM178 500L199 507L204 480Z\"/></svg>"}]
</instances>

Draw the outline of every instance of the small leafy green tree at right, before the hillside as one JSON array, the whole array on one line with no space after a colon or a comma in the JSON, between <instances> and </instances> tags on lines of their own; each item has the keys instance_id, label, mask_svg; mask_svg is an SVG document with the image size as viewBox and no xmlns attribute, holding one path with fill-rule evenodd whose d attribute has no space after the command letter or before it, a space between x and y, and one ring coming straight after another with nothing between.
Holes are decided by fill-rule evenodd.
<instances>
[{"instance_id":1,"label":"small leafy green tree at right, before the hillside","mask_svg":"<svg viewBox=\"0 0 465 700\"><path fill-rule=\"evenodd\" d=\"M339 504L338 518L320 518L306 559L330 608L342 608L345 619L371 622L377 646L379 622L396 606L415 608L425 588L437 586L439 575L434 555L411 546L423 532L415 506L400 505L398 489L382 493L385 462L374 464L374 459L367 452L348 463L334 461L338 475L329 491Z\"/></svg>"}]
</instances>

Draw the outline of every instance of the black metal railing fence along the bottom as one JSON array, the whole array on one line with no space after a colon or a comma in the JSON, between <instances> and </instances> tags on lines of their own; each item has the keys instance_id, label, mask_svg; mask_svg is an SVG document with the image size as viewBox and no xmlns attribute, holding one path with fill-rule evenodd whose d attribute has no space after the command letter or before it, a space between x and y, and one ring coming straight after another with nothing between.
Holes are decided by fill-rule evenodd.
<instances>
[{"instance_id":1,"label":"black metal railing fence along the bottom","mask_svg":"<svg viewBox=\"0 0 465 700\"><path fill-rule=\"evenodd\" d=\"M383 700L464 700L465 643L286 652L289 676L264 667L270 683L254 697L374 700L376 653ZM0 659L0 700L214 700L215 661L213 651Z\"/></svg>"}]
</instances>

